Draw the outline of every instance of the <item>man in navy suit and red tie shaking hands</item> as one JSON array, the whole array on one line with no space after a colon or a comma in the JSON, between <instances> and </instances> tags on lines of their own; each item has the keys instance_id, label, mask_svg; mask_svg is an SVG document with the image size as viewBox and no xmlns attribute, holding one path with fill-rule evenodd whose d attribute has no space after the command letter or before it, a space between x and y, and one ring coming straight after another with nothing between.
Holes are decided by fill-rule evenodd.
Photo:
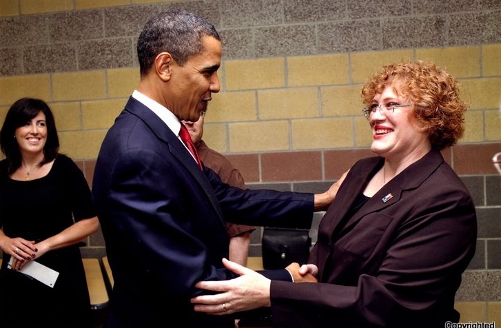
<instances>
[{"instance_id":1,"label":"man in navy suit and red tie shaking hands","mask_svg":"<svg viewBox=\"0 0 501 328\"><path fill-rule=\"evenodd\" d=\"M106 327L233 327L234 318L194 312L198 280L227 280L226 221L311 225L336 193L243 190L196 163L179 138L219 91L221 41L183 10L150 19L137 45L141 81L101 145L92 193L114 277ZM296 281L285 269L263 272ZM314 279L308 277L310 279ZM225 309L225 304L221 304Z\"/></svg>"}]
</instances>

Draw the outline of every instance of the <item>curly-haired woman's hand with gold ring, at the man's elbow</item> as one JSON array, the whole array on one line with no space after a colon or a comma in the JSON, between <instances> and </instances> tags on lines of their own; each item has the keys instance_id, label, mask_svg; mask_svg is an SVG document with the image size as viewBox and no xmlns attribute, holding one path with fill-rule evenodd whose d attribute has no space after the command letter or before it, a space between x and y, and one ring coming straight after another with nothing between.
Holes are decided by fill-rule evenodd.
<instances>
[{"instance_id":1,"label":"curly-haired woman's hand with gold ring, at the man's elbow","mask_svg":"<svg viewBox=\"0 0 501 328\"><path fill-rule=\"evenodd\" d=\"M241 275L232 280L200 281L195 287L208 291L218 291L219 294L203 295L192 298L194 309L207 314L234 314L238 311L248 311L258 307L269 307L270 280L252 269L247 269L237 263L223 258L227 269Z\"/></svg>"}]
</instances>

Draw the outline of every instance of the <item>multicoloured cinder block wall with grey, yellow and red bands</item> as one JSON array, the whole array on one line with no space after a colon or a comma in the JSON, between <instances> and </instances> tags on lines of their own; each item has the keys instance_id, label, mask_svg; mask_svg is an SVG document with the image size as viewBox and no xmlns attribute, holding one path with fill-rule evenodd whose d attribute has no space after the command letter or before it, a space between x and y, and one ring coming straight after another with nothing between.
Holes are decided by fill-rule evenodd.
<instances>
[{"instance_id":1,"label":"multicoloured cinder block wall with grey, yellow and red bands","mask_svg":"<svg viewBox=\"0 0 501 328\"><path fill-rule=\"evenodd\" d=\"M382 65L433 59L455 75L471 108L466 134L444 156L469 187L479 224L458 307L463 321L501 325L501 179L491 163L501 150L499 0L2 0L0 122L22 96L48 101L61 152L92 183L101 141L139 82L139 32L171 7L221 32L222 88L204 139L251 188L323 191L371 155L359 93ZM260 255L260 230L252 238ZM101 234L82 251L105 254Z\"/></svg>"}]
</instances>

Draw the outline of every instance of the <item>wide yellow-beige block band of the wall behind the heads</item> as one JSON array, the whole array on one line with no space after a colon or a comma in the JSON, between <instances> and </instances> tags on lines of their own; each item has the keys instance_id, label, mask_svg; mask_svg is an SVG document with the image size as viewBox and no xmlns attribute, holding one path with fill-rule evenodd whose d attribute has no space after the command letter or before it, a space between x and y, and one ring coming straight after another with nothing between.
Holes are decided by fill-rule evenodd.
<instances>
[{"instance_id":1,"label":"wide yellow-beige block band of the wall behind the heads","mask_svg":"<svg viewBox=\"0 0 501 328\"><path fill-rule=\"evenodd\" d=\"M361 83L403 58L433 59L458 77L471 106L460 143L501 141L501 44L227 60L205 139L227 154L368 147ZM0 113L21 96L44 99L54 109L61 151L96 158L138 82L137 68L0 76Z\"/></svg>"}]
</instances>

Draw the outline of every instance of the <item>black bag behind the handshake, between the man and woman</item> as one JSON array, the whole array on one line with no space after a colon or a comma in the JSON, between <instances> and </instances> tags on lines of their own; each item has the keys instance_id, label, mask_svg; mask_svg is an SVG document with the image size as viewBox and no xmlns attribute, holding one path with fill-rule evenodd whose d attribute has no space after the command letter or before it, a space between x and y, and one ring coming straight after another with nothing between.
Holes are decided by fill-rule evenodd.
<instances>
[{"instance_id":1,"label":"black bag behind the handshake, between the man and woman","mask_svg":"<svg viewBox=\"0 0 501 328\"><path fill-rule=\"evenodd\" d=\"M311 238L309 229L264 227L261 243L263 267L285 269L293 262L307 262Z\"/></svg>"}]
</instances>

